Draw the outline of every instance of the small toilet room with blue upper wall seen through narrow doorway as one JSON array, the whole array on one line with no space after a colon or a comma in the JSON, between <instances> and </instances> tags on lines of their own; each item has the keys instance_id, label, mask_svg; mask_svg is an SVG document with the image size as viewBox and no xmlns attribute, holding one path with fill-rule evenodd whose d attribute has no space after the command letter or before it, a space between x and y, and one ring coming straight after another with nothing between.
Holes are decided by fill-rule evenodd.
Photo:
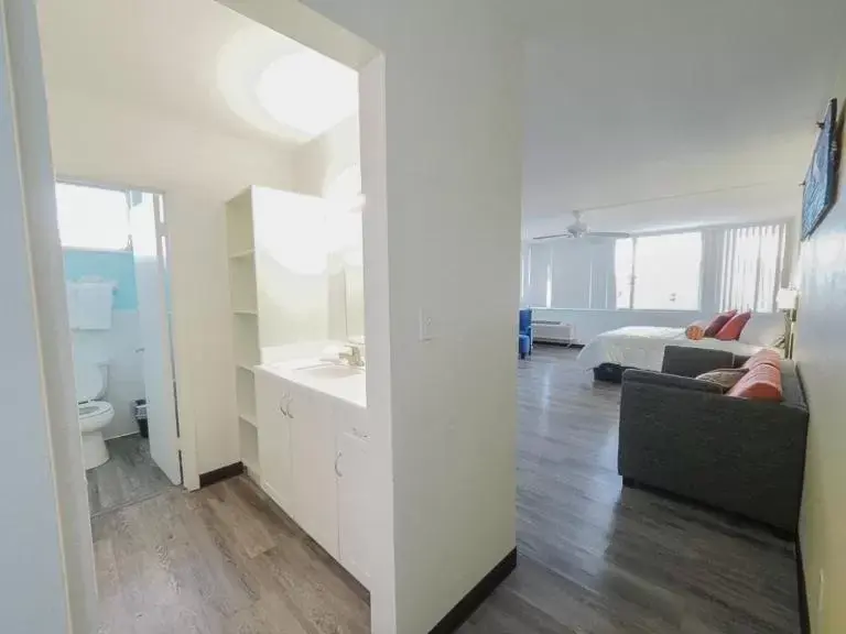
<instances>
[{"instance_id":1,"label":"small toilet room with blue upper wall seen through narrow doorway","mask_svg":"<svg viewBox=\"0 0 846 634\"><path fill-rule=\"evenodd\" d=\"M166 271L144 272L144 195L82 183L56 184L68 319L72 331L83 451L93 516L155 495L171 482L151 456L150 436L175 426L147 416L150 368L145 339L155 304L141 300L139 280L165 286ZM147 195L148 199L152 195ZM130 207L134 223L130 220ZM154 327L154 326L153 326ZM155 361L153 358L152 361ZM153 379L155 383L155 379Z\"/></svg>"}]
</instances>

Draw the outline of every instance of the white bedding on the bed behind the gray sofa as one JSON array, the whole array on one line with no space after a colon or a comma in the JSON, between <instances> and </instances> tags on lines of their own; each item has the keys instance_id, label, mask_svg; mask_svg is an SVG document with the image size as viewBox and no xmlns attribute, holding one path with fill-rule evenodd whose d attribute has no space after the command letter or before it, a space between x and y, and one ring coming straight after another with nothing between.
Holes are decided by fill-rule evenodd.
<instances>
[{"instance_id":1,"label":"white bedding on the bed behind the gray sofa","mask_svg":"<svg viewBox=\"0 0 846 634\"><path fill-rule=\"evenodd\" d=\"M659 328L654 326L628 326L609 330L584 347L578 354L578 363L585 370L603 363L615 363L625 368L639 368L658 372L664 360L665 346L728 350L735 354L744 356L752 354L762 348L762 346L752 346L740 341L720 341L711 338L692 341L685 337L684 331L684 328Z\"/></svg>"}]
</instances>

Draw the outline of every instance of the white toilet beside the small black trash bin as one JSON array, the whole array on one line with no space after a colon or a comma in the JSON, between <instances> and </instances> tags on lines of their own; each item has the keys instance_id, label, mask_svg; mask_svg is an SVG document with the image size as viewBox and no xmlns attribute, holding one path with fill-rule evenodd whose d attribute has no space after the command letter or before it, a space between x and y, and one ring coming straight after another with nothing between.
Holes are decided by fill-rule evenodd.
<instances>
[{"instance_id":1,"label":"white toilet beside the small black trash bin","mask_svg":"<svg viewBox=\"0 0 846 634\"><path fill-rule=\"evenodd\" d=\"M106 401L97 401L106 394L106 376L107 367L104 364L82 363L76 368L76 401L86 469L94 469L109 460L102 428L115 418L115 408Z\"/></svg>"}]
</instances>

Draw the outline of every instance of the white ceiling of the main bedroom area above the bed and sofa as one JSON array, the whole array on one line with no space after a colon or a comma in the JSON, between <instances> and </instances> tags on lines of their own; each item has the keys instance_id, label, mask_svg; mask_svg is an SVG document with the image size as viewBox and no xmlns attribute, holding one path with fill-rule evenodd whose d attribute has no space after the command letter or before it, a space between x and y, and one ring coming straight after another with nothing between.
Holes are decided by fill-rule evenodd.
<instances>
[{"instance_id":1,"label":"white ceiling of the main bedroom area above the bed and sofa","mask_svg":"<svg viewBox=\"0 0 846 634\"><path fill-rule=\"evenodd\" d=\"M562 229L572 209L600 208L585 219L603 230L795 215L814 121L844 64L846 2L533 8L527 236Z\"/></svg>"}]
</instances>

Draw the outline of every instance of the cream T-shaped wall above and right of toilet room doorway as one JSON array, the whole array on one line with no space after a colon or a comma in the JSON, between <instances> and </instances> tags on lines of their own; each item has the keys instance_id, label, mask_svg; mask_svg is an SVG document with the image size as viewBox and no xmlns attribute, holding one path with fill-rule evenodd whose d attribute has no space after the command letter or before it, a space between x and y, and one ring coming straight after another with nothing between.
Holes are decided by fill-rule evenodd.
<instances>
[{"instance_id":1,"label":"cream T-shaped wall above and right of toilet room doorway","mask_svg":"<svg viewBox=\"0 0 846 634\"><path fill-rule=\"evenodd\" d=\"M180 415L196 427L185 459L199 473L237 462L224 205L249 185L290 188L290 153L119 101L47 94L59 175L164 192Z\"/></svg>"}]
</instances>

